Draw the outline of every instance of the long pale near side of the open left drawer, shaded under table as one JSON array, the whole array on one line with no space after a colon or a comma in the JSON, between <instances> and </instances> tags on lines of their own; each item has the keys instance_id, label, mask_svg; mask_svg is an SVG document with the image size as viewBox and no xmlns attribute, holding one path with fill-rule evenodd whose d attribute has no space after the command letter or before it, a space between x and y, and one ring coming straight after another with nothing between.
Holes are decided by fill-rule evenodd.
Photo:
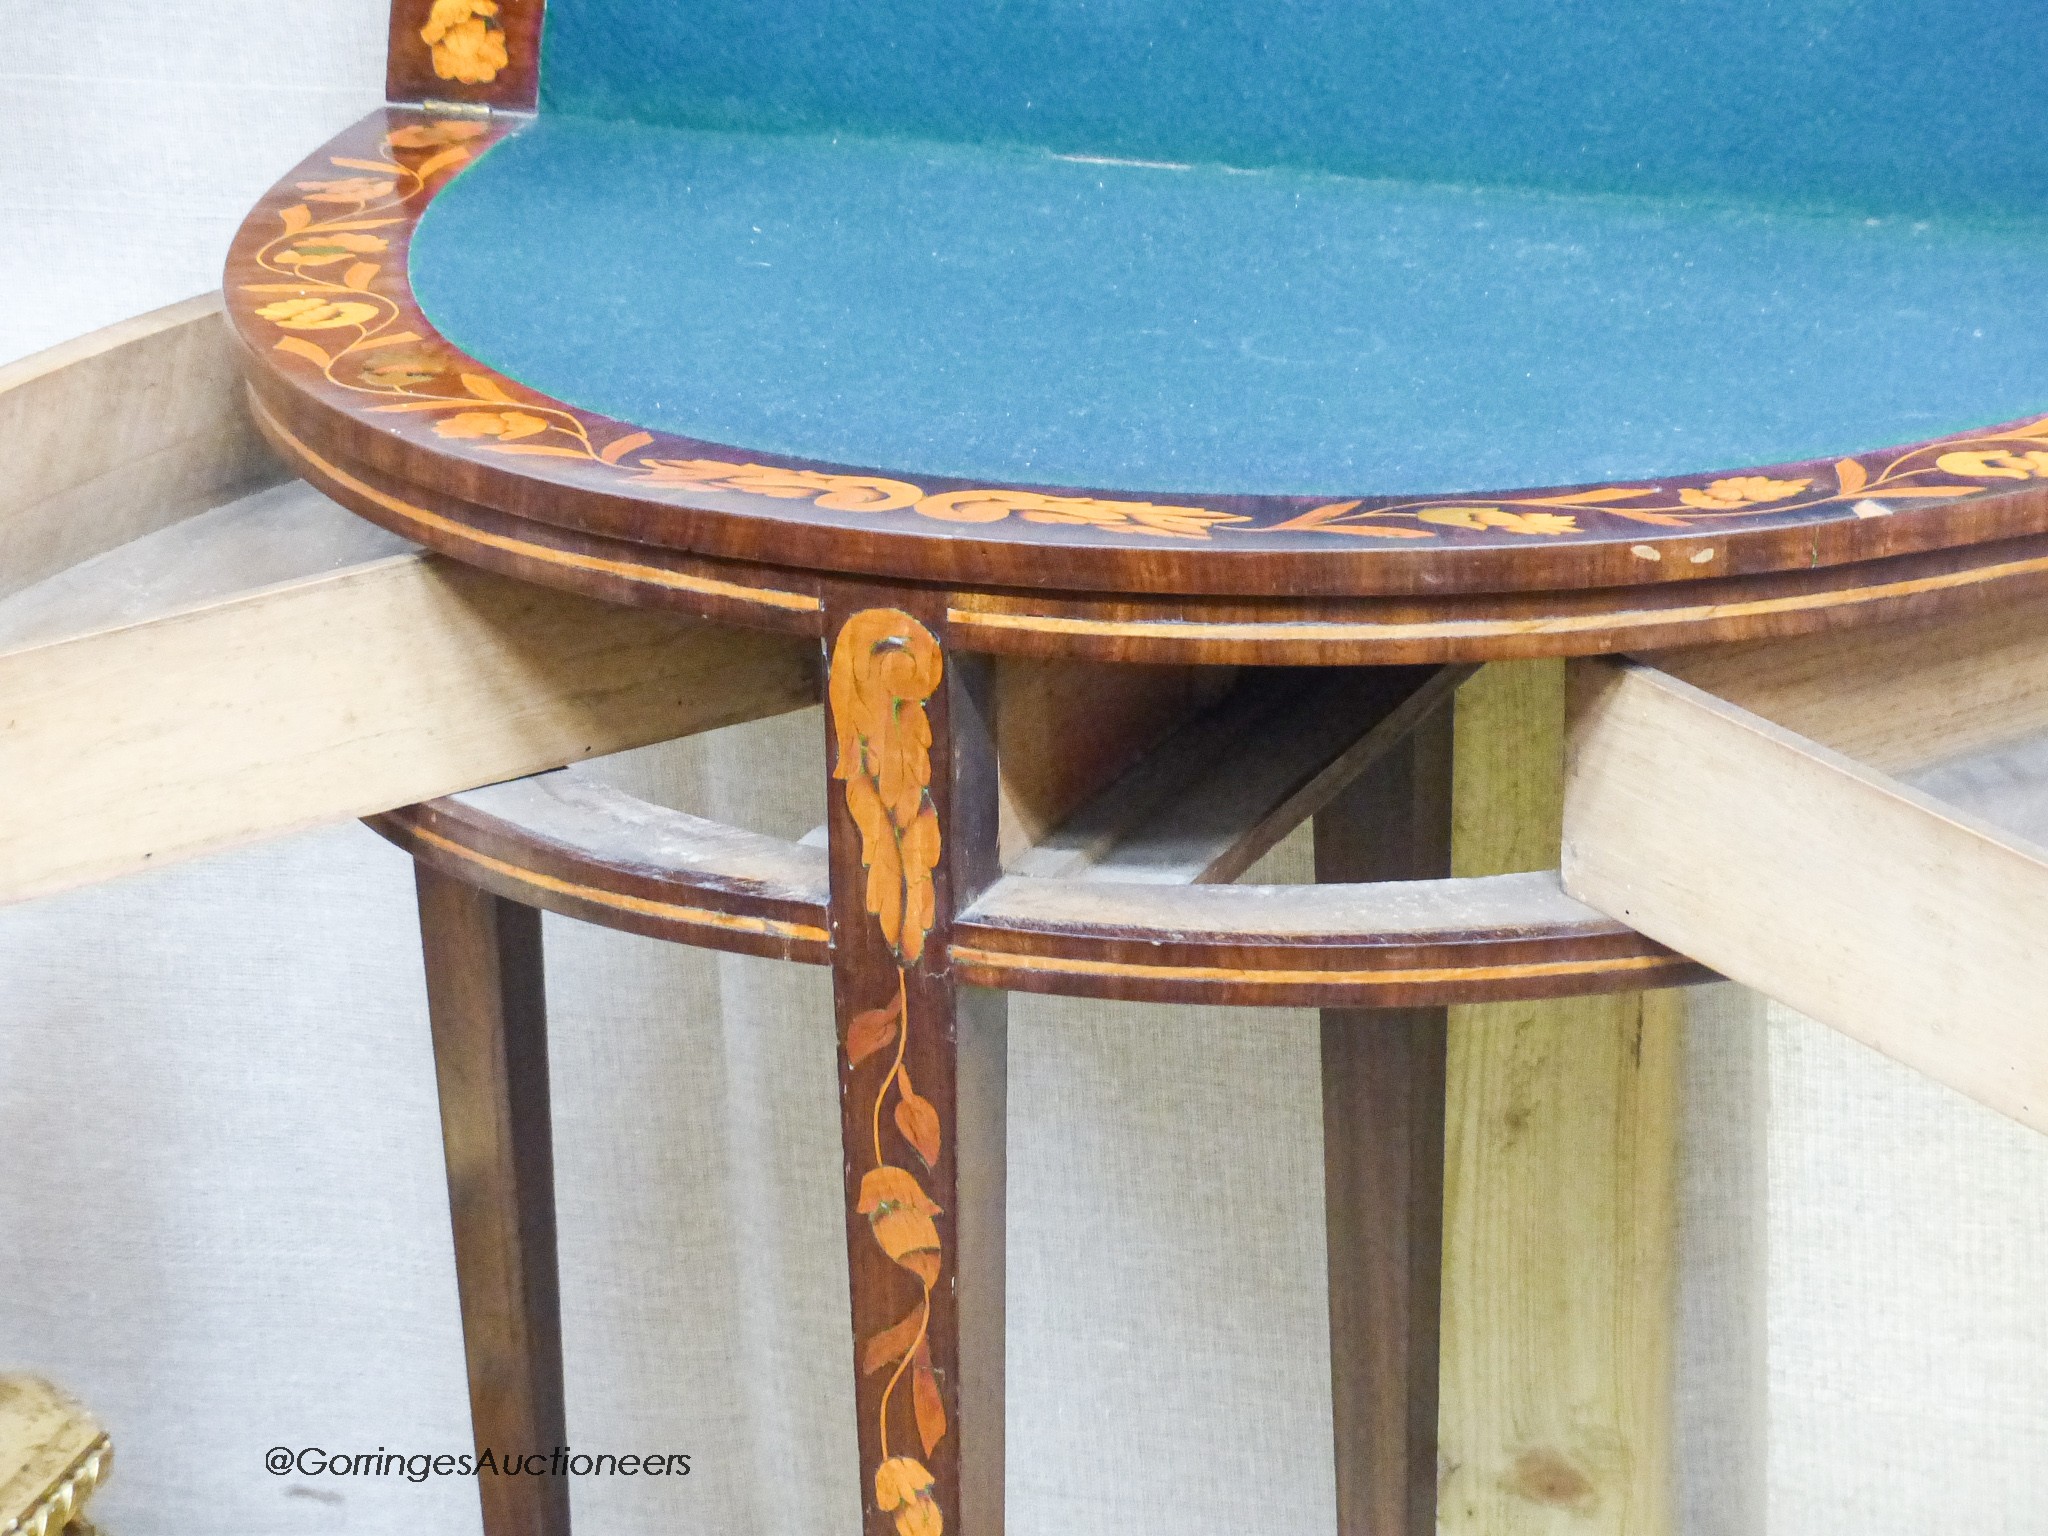
<instances>
[{"instance_id":1,"label":"long pale near side of the open left drawer, shaded under table","mask_svg":"<svg viewBox=\"0 0 2048 1536\"><path fill-rule=\"evenodd\" d=\"M817 647L395 555L0 655L0 901L815 700Z\"/></svg>"}]
</instances>

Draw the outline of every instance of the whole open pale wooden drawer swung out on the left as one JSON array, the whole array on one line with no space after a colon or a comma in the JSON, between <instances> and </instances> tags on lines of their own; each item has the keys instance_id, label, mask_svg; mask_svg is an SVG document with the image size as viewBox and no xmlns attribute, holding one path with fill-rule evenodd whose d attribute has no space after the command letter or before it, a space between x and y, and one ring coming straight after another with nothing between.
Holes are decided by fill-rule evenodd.
<instances>
[{"instance_id":1,"label":"whole open pale wooden drawer swung out on the left","mask_svg":"<svg viewBox=\"0 0 2048 1536\"><path fill-rule=\"evenodd\" d=\"M0 901L817 696L811 643L244 496L285 469L213 295L0 369Z\"/></svg>"}]
</instances>

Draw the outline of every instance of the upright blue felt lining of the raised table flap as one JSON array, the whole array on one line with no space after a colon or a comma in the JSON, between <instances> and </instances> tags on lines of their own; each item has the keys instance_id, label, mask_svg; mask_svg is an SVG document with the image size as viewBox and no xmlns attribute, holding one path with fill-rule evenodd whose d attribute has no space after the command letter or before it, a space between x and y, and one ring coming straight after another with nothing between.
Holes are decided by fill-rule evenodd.
<instances>
[{"instance_id":1,"label":"upright blue felt lining of the raised table flap","mask_svg":"<svg viewBox=\"0 0 2048 1536\"><path fill-rule=\"evenodd\" d=\"M2028 0L549 0L541 104L1423 182L2048 211Z\"/></svg>"}]
</instances>

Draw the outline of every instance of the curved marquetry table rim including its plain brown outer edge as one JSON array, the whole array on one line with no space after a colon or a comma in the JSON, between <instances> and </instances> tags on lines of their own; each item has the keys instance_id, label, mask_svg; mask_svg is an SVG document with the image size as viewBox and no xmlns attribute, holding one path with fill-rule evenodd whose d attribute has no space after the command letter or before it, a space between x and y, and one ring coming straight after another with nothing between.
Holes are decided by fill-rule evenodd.
<instances>
[{"instance_id":1,"label":"curved marquetry table rim including its plain brown outer edge","mask_svg":"<svg viewBox=\"0 0 2048 1536\"><path fill-rule=\"evenodd\" d=\"M524 0L465 2L477 14L463 35L479 47L500 33L510 47L522 18L539 16ZM395 479L461 487L465 504L516 522L985 590L1272 602L1583 592L1620 610L1626 594L1743 578L1782 590L1823 567L2048 530L2048 418L1640 483L1335 500L975 483L651 432L492 371L440 336L412 293L420 213L518 127L373 113L258 203L227 268L252 375L291 397L301 440L338 461L365 461L375 444ZM567 578L561 561L553 569ZM1602 633L1597 614L1544 633L1581 631Z\"/></svg>"}]
</instances>

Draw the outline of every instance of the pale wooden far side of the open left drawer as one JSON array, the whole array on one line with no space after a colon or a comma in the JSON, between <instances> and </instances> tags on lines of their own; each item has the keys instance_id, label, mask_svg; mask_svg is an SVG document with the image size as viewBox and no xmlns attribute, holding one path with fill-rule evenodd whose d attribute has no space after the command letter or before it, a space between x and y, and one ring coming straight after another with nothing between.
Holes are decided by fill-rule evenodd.
<instances>
[{"instance_id":1,"label":"pale wooden far side of the open left drawer","mask_svg":"<svg viewBox=\"0 0 2048 1536\"><path fill-rule=\"evenodd\" d=\"M0 598L287 477L217 293L0 367Z\"/></svg>"}]
</instances>

